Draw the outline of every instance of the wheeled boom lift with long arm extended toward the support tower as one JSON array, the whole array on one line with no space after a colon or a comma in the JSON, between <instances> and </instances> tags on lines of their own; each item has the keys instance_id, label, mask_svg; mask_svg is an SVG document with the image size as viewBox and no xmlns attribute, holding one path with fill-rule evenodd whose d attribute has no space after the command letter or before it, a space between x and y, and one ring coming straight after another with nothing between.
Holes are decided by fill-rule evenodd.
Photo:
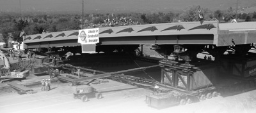
<instances>
[{"instance_id":1,"label":"wheeled boom lift with long arm extended toward the support tower","mask_svg":"<svg viewBox=\"0 0 256 113\"><path fill-rule=\"evenodd\" d=\"M152 68L152 67L158 67L158 65L152 65L149 67L140 67L140 68L136 68L136 69L121 70L121 71L117 71L117 72L108 72L108 73L104 72L103 74L99 74L97 76L83 77L83 78L78 78L78 79L76 79L76 77L75 77L75 79L71 79L74 77L68 77L68 76L67 77L60 76L60 77L58 77L58 79L61 81L67 81L67 82L72 83L72 92L74 94L74 98L81 98L82 102L86 102L88 100L88 97L92 97L93 95L94 95L94 97L96 97L98 99L102 98L102 94L99 93L95 88L90 86L90 83L93 83L93 81L95 81L96 79L108 77L108 79L113 79L116 81L122 80L122 82L125 82L125 83L127 83L128 81L133 81L136 83L152 84L152 83L154 83L152 80L150 81L150 80L146 80L146 79L141 79L140 77L124 76L121 74L124 72L144 70L144 69L148 69L148 68ZM102 73L102 72L100 72L100 73ZM121 75L116 75L116 74L121 74ZM87 80L90 80L90 81L88 81L87 83L83 83L83 81L87 81ZM144 87L140 84L133 84L133 85Z\"/></svg>"}]
</instances>

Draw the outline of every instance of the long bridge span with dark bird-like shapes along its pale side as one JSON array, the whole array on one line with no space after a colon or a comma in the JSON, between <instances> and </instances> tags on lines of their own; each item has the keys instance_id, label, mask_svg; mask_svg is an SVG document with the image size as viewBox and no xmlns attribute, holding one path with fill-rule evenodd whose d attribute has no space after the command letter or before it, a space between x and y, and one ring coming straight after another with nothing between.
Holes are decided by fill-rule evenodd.
<instances>
[{"instance_id":1,"label":"long bridge span with dark bird-like shapes along its pale side","mask_svg":"<svg viewBox=\"0 0 256 113\"><path fill-rule=\"evenodd\" d=\"M24 36L24 48L81 46L79 30ZM158 23L99 28L99 45L113 44L215 44L230 46L256 43L256 22L217 21Z\"/></svg>"}]
</instances>

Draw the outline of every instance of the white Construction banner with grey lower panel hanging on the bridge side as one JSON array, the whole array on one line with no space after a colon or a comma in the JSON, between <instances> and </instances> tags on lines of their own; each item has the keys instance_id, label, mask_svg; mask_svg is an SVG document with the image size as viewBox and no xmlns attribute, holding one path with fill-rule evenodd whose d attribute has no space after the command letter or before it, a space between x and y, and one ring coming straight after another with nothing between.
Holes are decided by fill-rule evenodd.
<instances>
[{"instance_id":1,"label":"white Construction banner with grey lower panel hanging on the bridge side","mask_svg":"<svg viewBox=\"0 0 256 113\"><path fill-rule=\"evenodd\" d=\"M99 43L99 28L79 30L77 43L82 46L82 53L95 53Z\"/></svg>"}]
</instances>

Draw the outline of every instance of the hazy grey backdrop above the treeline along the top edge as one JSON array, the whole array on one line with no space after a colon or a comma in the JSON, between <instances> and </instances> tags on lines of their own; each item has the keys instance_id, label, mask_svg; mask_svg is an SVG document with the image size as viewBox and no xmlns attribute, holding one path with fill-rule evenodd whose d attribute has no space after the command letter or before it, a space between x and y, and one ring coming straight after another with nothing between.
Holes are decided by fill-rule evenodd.
<instances>
[{"instance_id":1,"label":"hazy grey backdrop above the treeline along the top edge","mask_svg":"<svg viewBox=\"0 0 256 113\"><path fill-rule=\"evenodd\" d=\"M20 1L20 3L19 3ZM0 0L0 11L82 11L83 0ZM239 6L256 6L255 0L238 0ZM236 0L84 0L84 11L183 10L192 5L210 10L236 8Z\"/></svg>"}]
</instances>

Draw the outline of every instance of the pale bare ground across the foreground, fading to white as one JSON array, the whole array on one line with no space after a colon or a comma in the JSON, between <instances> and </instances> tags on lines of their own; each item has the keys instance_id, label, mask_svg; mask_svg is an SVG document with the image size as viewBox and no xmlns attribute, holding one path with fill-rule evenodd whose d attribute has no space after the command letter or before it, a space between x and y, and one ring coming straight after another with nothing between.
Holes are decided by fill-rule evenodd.
<instances>
[{"instance_id":1,"label":"pale bare ground across the foreground, fading to white","mask_svg":"<svg viewBox=\"0 0 256 113\"><path fill-rule=\"evenodd\" d=\"M149 65L137 62L140 66ZM141 64L143 63L143 64ZM124 70L138 65L118 65L115 67L101 67L102 70ZM156 70L158 71L158 70ZM145 72L134 72L128 75L159 77L154 70ZM102 93L104 98L98 100L90 98L88 102L74 99L70 89L70 83L52 83L52 90L41 91L40 86L33 88L37 93L19 95L8 93L0 95L0 112L125 112L125 113L255 113L256 112L256 90L239 93L233 96L207 99L202 102L186 104L182 106L169 107L166 109L154 109L145 103L146 95L152 93L150 90L137 88L129 84L118 83L108 80L108 83L92 84L94 88Z\"/></svg>"}]
</instances>

